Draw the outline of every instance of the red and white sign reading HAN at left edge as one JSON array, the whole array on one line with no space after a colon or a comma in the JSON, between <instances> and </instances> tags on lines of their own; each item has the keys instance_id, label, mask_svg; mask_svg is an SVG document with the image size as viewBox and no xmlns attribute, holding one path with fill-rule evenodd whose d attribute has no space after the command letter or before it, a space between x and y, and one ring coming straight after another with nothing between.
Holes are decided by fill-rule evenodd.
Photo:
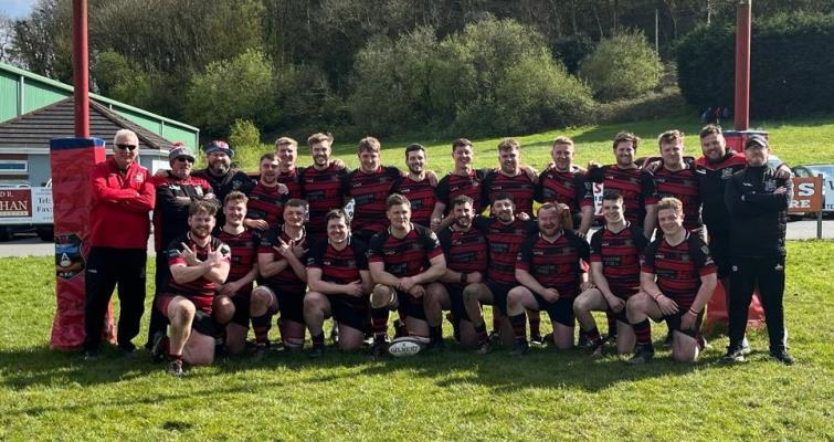
<instances>
[{"instance_id":1,"label":"red and white sign reading HAN at left edge","mask_svg":"<svg viewBox=\"0 0 834 442\"><path fill-rule=\"evenodd\" d=\"M0 189L0 223L51 224L52 189Z\"/></svg>"}]
</instances>

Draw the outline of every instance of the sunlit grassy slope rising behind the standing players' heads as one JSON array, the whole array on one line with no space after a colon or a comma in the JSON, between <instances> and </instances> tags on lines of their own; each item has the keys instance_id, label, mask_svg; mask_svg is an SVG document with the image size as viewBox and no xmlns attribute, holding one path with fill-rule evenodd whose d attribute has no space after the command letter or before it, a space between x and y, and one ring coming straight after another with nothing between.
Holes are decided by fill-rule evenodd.
<instances>
[{"instance_id":1,"label":"sunlit grassy slope rising behind the standing players' heads","mask_svg":"<svg viewBox=\"0 0 834 442\"><path fill-rule=\"evenodd\" d=\"M727 127L732 122L727 122ZM620 130L630 130L643 138L637 149L637 156L657 155L657 135L667 129L677 128L686 134L686 154L700 156L700 141L698 133L703 125L695 117L674 117L666 119L645 120L637 123L623 123L615 125L589 126L563 130L552 130L529 136L519 136L521 144L521 157L524 162L541 170L550 161L550 147L556 137L566 135L573 139L577 145L577 164L587 165L589 160L601 164L614 162L611 151L611 143L614 135ZM752 122L754 129L768 130L771 141L771 152L779 156L791 166L814 162L832 162L834 158L834 116L793 119L790 122ZM356 147L358 139L339 139L335 134L336 144L334 155L345 160L350 168L356 168ZM465 136L465 135L462 135ZM473 139L475 144L475 166L497 167L497 146L500 138ZM429 167L441 176L448 172L453 167L452 141L453 139L415 138L382 141L382 162L384 165L405 168L404 148L411 143L420 143L426 147ZM304 140L299 139L298 165L309 165L309 149ZM263 151L270 151L273 147L264 145ZM246 170L257 169L258 152L244 152L237 159ZM204 165L204 161L203 161ZM200 167L198 165L198 167ZM203 166L204 167L204 166Z\"/></svg>"}]
</instances>

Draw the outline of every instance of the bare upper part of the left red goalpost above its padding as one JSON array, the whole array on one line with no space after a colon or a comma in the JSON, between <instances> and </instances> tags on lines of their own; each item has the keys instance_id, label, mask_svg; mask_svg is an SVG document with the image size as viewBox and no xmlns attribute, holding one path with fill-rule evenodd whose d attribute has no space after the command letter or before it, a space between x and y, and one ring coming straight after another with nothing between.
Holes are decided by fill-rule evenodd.
<instances>
[{"instance_id":1,"label":"bare upper part of the left red goalpost above its padding","mask_svg":"<svg viewBox=\"0 0 834 442\"><path fill-rule=\"evenodd\" d=\"M75 136L89 138L89 55L87 51L87 0L73 0L73 85Z\"/></svg>"}]
</instances>

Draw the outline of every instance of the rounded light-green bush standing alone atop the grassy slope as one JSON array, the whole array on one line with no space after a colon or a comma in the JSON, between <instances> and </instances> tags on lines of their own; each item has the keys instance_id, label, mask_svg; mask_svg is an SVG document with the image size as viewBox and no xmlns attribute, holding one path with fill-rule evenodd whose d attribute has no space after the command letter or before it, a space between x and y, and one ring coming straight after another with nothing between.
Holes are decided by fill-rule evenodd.
<instances>
[{"instance_id":1,"label":"rounded light-green bush standing alone atop the grassy slope","mask_svg":"<svg viewBox=\"0 0 834 442\"><path fill-rule=\"evenodd\" d=\"M603 102L643 95L657 87L662 73L661 59L638 31L600 40L579 65L580 77Z\"/></svg>"}]
</instances>

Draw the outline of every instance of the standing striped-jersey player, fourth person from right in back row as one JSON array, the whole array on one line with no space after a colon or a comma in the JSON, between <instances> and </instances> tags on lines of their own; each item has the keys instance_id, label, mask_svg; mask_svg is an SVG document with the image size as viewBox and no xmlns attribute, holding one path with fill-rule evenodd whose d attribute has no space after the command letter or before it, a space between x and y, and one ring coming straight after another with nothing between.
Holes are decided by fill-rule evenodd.
<instances>
[{"instance_id":1,"label":"standing striped-jersey player, fourth person from right in back row","mask_svg":"<svg viewBox=\"0 0 834 442\"><path fill-rule=\"evenodd\" d=\"M634 225L643 228L646 238L652 238L657 223L655 204L657 191L652 173L641 169L634 162L640 138L630 133L619 133L614 137L614 156L616 164L598 166L591 164L588 169L588 180L601 182L603 192L616 190L623 196L625 219ZM585 194L587 203L593 204L593 192Z\"/></svg>"}]
</instances>

